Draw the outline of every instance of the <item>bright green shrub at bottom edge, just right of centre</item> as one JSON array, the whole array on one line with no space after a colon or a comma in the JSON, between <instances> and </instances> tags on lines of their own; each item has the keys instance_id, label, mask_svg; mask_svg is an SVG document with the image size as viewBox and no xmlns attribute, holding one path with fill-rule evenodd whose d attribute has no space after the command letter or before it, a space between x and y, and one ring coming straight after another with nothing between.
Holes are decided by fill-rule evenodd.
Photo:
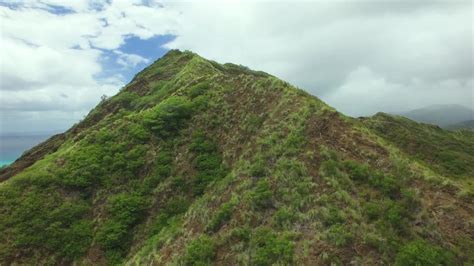
<instances>
[{"instance_id":1,"label":"bright green shrub at bottom edge, just right of centre","mask_svg":"<svg viewBox=\"0 0 474 266\"><path fill-rule=\"evenodd\" d=\"M254 265L289 265L293 263L294 243L269 228L258 228L251 239Z\"/></svg>"}]
</instances>

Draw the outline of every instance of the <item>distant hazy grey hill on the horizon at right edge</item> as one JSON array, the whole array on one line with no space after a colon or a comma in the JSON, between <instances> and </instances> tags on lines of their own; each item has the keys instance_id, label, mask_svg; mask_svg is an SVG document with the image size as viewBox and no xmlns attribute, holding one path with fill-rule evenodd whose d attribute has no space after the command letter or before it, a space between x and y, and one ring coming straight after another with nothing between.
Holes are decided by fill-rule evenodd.
<instances>
[{"instance_id":1,"label":"distant hazy grey hill on the horizon at right edge","mask_svg":"<svg viewBox=\"0 0 474 266\"><path fill-rule=\"evenodd\" d=\"M400 115L417 122L448 127L457 123L474 120L474 111L468 107L456 104L437 104L415 109Z\"/></svg>"}]
</instances>

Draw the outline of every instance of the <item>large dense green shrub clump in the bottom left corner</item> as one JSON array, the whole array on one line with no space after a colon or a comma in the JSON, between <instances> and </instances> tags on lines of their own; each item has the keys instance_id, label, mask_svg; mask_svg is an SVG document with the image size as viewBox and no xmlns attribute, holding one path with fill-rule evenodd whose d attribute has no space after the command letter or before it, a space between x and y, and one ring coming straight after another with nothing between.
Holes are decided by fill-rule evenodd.
<instances>
[{"instance_id":1,"label":"large dense green shrub clump in the bottom left corner","mask_svg":"<svg viewBox=\"0 0 474 266\"><path fill-rule=\"evenodd\" d=\"M59 199L50 193L18 196L21 200L15 203L10 217L2 217L0 228L5 234L12 230L14 248L44 247L71 260L84 255L93 234L91 222L85 220L90 206L77 200L55 208L53 202Z\"/></svg>"}]
</instances>

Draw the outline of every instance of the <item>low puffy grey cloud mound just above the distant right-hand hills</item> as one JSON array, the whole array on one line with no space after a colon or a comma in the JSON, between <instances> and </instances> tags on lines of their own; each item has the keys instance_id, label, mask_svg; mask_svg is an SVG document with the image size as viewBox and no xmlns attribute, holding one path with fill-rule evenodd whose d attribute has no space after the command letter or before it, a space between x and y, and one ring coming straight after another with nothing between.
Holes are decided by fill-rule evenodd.
<instances>
[{"instance_id":1,"label":"low puffy grey cloud mound just above the distant right-hand hills","mask_svg":"<svg viewBox=\"0 0 474 266\"><path fill-rule=\"evenodd\" d=\"M432 82L422 79L391 82L367 67L352 71L344 84L329 92L325 99L337 103L339 111L363 116L383 110L397 113L439 103L472 106L474 80L447 79ZM395 99L395 100L394 100ZM403 99L403 101L396 100Z\"/></svg>"}]
</instances>

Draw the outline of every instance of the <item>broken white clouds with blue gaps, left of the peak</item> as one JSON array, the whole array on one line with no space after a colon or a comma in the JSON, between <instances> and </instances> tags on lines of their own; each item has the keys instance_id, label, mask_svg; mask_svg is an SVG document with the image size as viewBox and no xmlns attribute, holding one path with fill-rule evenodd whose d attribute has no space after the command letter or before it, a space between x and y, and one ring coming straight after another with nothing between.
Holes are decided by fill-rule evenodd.
<instances>
[{"instance_id":1,"label":"broken white clouds with blue gaps, left of the peak","mask_svg":"<svg viewBox=\"0 0 474 266\"><path fill-rule=\"evenodd\" d=\"M147 39L168 33L174 23L168 22L173 19L170 12L135 0L1 3L3 132L71 126L101 95L113 95L124 85L118 73L104 77L110 73L104 72L104 59L114 55L123 69L149 63L148 58L118 48L131 36ZM28 118L33 115L35 123ZM61 122L51 122L55 117Z\"/></svg>"}]
</instances>

